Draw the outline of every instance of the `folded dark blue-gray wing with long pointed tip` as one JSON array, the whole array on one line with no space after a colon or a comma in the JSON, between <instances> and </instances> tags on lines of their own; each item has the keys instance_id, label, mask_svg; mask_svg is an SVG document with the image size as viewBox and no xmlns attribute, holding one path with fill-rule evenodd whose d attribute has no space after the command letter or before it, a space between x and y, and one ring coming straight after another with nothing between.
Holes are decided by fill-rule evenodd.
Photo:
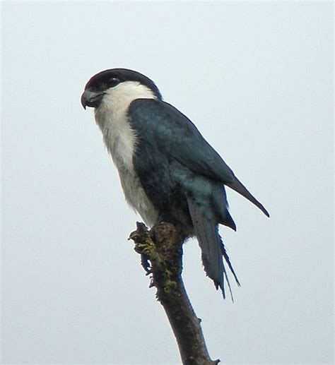
<instances>
[{"instance_id":1,"label":"folded dark blue-gray wing with long pointed tip","mask_svg":"<svg viewBox=\"0 0 335 365\"><path fill-rule=\"evenodd\" d=\"M233 171L209 145L196 126L172 105L153 99L137 99L129 106L131 124L141 138L155 145L188 169L213 180L221 181L257 205L266 209L242 185Z\"/></svg>"}]
</instances>

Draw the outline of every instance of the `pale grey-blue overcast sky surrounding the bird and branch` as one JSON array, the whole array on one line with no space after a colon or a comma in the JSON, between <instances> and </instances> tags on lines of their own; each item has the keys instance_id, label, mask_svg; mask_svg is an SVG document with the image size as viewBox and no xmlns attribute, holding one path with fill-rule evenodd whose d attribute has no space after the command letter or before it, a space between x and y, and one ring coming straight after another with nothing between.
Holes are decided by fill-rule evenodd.
<instances>
[{"instance_id":1,"label":"pale grey-blue overcast sky surrounding the bird and branch","mask_svg":"<svg viewBox=\"0 0 335 365\"><path fill-rule=\"evenodd\" d=\"M271 214L228 191L221 227L242 283L223 300L184 248L212 359L333 356L329 2L2 4L2 362L177 364L133 244L135 213L81 92L140 71Z\"/></svg>"}]
</instances>

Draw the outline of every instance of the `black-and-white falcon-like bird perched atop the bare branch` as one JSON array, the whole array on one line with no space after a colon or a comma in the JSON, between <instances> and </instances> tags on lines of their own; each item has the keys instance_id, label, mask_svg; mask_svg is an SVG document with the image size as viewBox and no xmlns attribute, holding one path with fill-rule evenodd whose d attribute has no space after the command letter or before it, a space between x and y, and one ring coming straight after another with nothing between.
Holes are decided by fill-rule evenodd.
<instances>
[{"instance_id":1,"label":"black-and-white falcon-like bird perched atop the bare branch","mask_svg":"<svg viewBox=\"0 0 335 365\"><path fill-rule=\"evenodd\" d=\"M178 225L184 241L196 237L206 275L225 298L228 265L219 225L236 230L225 186L268 211L235 176L187 116L163 100L153 80L127 68L92 76L81 95L119 172L127 203L149 227ZM224 263L224 261L225 263ZM233 299L233 296L232 296Z\"/></svg>"}]
</instances>

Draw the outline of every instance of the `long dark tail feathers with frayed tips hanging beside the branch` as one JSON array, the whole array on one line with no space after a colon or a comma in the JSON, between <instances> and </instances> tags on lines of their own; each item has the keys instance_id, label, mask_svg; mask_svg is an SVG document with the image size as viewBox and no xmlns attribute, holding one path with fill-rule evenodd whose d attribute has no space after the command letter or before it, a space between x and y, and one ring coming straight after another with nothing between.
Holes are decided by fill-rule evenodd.
<instances>
[{"instance_id":1,"label":"long dark tail feathers with frayed tips hanging beside the branch","mask_svg":"<svg viewBox=\"0 0 335 365\"><path fill-rule=\"evenodd\" d=\"M233 300L233 294L230 287L230 282L228 279L227 271L225 270L225 265L223 263L223 257L225 258L228 267L230 268L237 285L240 282L237 279L233 265L230 263L227 252L225 251L225 246L223 241L218 234L218 225L212 220L208 220L201 214L201 210L192 199L188 199L189 213L192 218L192 223L194 226L194 231L196 238L198 239L199 246L201 248L201 258L204 264L204 269L206 274L211 277L216 286L221 288L223 298L225 298L225 281L227 282L230 296Z\"/></svg>"}]
</instances>

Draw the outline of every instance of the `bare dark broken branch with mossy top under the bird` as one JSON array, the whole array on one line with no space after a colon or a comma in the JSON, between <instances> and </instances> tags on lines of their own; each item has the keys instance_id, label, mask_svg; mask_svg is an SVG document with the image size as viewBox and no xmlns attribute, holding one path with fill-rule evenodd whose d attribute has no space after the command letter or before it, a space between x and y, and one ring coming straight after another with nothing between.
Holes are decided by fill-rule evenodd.
<instances>
[{"instance_id":1,"label":"bare dark broken branch with mossy top under the bird","mask_svg":"<svg viewBox=\"0 0 335 365\"><path fill-rule=\"evenodd\" d=\"M156 297L163 305L180 349L182 363L218 364L220 360L209 357L200 319L196 317L182 281L183 238L178 227L162 222L149 232L143 223L129 239L135 243L135 251L141 254L142 265L148 272L151 263L152 286L157 288Z\"/></svg>"}]
</instances>

